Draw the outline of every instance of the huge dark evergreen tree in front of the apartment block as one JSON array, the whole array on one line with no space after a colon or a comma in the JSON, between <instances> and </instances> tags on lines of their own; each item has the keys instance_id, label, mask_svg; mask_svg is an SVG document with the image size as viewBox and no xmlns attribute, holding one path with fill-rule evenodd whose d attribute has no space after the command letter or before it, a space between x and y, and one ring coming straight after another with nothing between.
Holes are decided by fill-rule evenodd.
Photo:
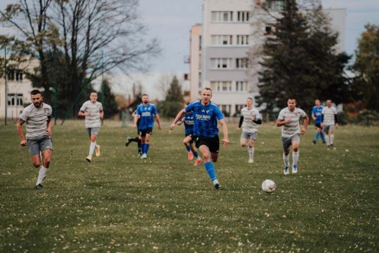
<instances>
[{"instance_id":1,"label":"huge dark evergreen tree in front of the apartment block","mask_svg":"<svg viewBox=\"0 0 379 253\"><path fill-rule=\"evenodd\" d=\"M310 111L315 98L348 99L344 70L350 56L336 53L338 34L330 30L321 6L302 14L296 0L283 0L274 27L263 46L258 105L272 113L296 97L298 106Z\"/></svg>"}]
</instances>

